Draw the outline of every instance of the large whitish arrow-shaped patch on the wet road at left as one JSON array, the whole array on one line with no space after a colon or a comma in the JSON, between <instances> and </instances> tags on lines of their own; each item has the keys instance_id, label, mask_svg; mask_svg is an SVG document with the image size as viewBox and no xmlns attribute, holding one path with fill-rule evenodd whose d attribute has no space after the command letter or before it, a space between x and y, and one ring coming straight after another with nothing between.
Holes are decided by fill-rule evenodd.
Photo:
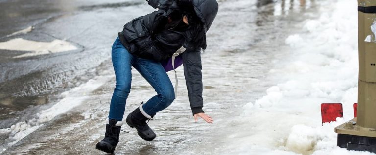
<instances>
[{"instance_id":1,"label":"large whitish arrow-shaped patch on the wet road at left","mask_svg":"<svg viewBox=\"0 0 376 155\"><path fill-rule=\"evenodd\" d=\"M6 42L1 42L0 49L12 51L30 51L30 53L13 57L22 58L76 50L77 47L63 40L53 40L52 42L36 42L25 40L23 38L16 38Z\"/></svg>"}]
</instances>

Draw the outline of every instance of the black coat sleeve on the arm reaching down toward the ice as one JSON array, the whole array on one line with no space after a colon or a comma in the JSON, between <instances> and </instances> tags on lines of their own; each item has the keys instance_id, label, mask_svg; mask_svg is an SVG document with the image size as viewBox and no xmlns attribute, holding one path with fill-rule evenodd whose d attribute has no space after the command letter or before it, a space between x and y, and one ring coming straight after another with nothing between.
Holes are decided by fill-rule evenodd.
<instances>
[{"instance_id":1,"label":"black coat sleeve on the arm reaching down toward the ice","mask_svg":"<svg viewBox=\"0 0 376 155\"><path fill-rule=\"evenodd\" d=\"M184 77L186 79L188 97L192 114L204 112L202 107L202 65L200 51L185 51L182 54L184 65Z\"/></svg>"}]
</instances>

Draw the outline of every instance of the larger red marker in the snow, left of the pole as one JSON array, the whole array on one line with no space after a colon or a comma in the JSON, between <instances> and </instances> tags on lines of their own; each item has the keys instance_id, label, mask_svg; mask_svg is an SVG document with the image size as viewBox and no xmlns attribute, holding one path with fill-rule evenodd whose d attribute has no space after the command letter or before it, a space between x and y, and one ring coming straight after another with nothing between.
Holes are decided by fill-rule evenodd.
<instances>
[{"instance_id":1,"label":"larger red marker in the snow, left of the pole","mask_svg":"<svg viewBox=\"0 0 376 155\"><path fill-rule=\"evenodd\" d=\"M342 103L322 103L321 121L322 123L333 122L337 117L343 117Z\"/></svg>"}]
</instances>

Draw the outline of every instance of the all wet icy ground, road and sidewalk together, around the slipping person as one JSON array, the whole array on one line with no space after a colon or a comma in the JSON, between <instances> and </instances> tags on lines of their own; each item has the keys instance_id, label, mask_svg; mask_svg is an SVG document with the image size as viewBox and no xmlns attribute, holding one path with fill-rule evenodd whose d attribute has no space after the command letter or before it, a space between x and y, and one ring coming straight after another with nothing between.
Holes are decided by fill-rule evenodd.
<instances>
[{"instance_id":1,"label":"all wet icy ground, road and sidewalk together, around the slipping person","mask_svg":"<svg viewBox=\"0 0 376 155\"><path fill-rule=\"evenodd\" d=\"M117 0L110 4L98 0L33 2L0 1L3 8L0 10L5 12L0 14L5 19L0 22L5 27L0 31L0 41L20 37L36 41L62 39L79 49L19 59L12 57L24 52L0 50L1 128L35 117L58 102L62 98L59 94L89 79L111 77L110 52L117 32L130 19L153 11L142 5L142 0ZM243 123L242 106L264 95L265 89L273 85L265 79L273 60L289 54L283 50L285 38L296 31L296 24L315 18L315 14L309 13L316 12L319 3L317 0L218 2L220 9L207 34L208 48L202 54L204 111L215 123L193 122L187 90L184 82L180 82L178 98L149 123L157 138L143 141L124 125L122 129L131 133L121 133L116 154L231 154L234 150L226 150L231 143L227 137ZM17 6L29 11L13 13L17 12L18 8L14 8ZM19 18L10 20L13 16ZM33 31L7 36L28 26L34 26ZM184 81L183 68L177 71L179 80ZM1 148L7 148L3 154L101 154L94 147L104 135L104 119L114 86L115 78L108 78L100 88L85 94L88 99L81 105L44 123L10 148L7 147L10 141L1 135ZM154 93L133 70L125 115Z\"/></svg>"}]
</instances>

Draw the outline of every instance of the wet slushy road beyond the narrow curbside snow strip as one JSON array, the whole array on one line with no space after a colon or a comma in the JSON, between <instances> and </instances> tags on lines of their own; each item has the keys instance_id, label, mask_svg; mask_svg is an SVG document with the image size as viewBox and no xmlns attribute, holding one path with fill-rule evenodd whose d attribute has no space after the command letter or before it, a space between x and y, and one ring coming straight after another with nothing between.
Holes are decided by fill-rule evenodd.
<instances>
[{"instance_id":1,"label":"wet slushy road beyond the narrow curbside snow strip","mask_svg":"<svg viewBox=\"0 0 376 155\"><path fill-rule=\"evenodd\" d=\"M45 5L37 5L38 3ZM76 4L62 4L65 0L40 0L29 4L29 1L20 0L5 1L1 3L1 19L6 15L11 16L13 12L19 12L20 17L1 20L1 25L11 27L10 30L3 30L0 41L7 41L14 38L24 38L33 41L50 42L54 39L66 40L78 47L77 50L38 55L25 58L13 58L14 56L27 53L25 51L0 50L0 119L14 119L17 115L30 113L29 108L56 101L56 95L61 92L79 86L88 79L95 76L95 67L110 58L108 52L112 40L117 36L124 22L118 19L121 14L124 18L132 19L137 17L131 10L123 11L121 8L141 7L143 1L116 0L114 3L98 2L95 0L87 3L77 0ZM27 3L27 4L24 4ZM74 5L73 5L74 4ZM64 10L62 6L72 6ZM14 8L21 7L21 8ZM30 8L24 10L23 7ZM53 13L46 11L52 9ZM76 8L77 7L77 8ZM74 9L75 8L75 9ZM30 13L30 10L41 10ZM142 13L150 12L153 9L142 7ZM39 17L40 19L24 22L24 18ZM20 19L21 18L21 19ZM20 22L18 22L20 21ZM9 24L9 25L8 25ZM13 29L12 25L23 25L22 28ZM11 32L33 26L33 30L27 34L17 34L7 37ZM14 26L17 27L17 26ZM105 39L107 38L107 39ZM27 109L26 111L24 111ZM11 114L9 114L11 113ZM8 121L6 121L8 122ZM7 127L2 123L2 127Z\"/></svg>"}]
</instances>

